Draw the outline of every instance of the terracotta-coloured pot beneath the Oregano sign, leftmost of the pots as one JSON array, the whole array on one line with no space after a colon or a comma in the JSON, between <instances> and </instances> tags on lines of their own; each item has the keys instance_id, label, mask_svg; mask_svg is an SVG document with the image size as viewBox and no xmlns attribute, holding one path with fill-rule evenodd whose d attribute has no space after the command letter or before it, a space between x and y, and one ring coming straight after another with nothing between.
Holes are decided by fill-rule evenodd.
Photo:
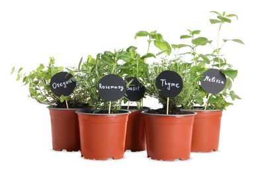
<instances>
[{"instance_id":1,"label":"terracotta-coloured pot beneath the Oregano sign, leftmost of the pots","mask_svg":"<svg viewBox=\"0 0 256 171\"><path fill-rule=\"evenodd\" d=\"M79 151L79 125L75 110L50 108L52 149L56 151Z\"/></svg>"}]
</instances>

